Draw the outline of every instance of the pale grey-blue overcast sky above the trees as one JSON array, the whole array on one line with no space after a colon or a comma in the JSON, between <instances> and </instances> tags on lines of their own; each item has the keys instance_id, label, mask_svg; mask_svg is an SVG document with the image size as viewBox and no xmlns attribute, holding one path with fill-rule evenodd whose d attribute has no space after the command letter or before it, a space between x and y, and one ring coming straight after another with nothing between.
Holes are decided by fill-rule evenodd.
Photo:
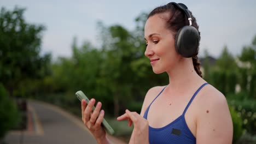
<instances>
[{"instance_id":1,"label":"pale grey-blue overcast sky above the trees","mask_svg":"<svg viewBox=\"0 0 256 144\"><path fill-rule=\"evenodd\" d=\"M74 0L35 1L0 0L0 6L13 10L15 5L26 8L25 19L46 27L43 33L42 52L51 52L53 57L71 56L73 37L78 45L84 40L97 45L96 22L110 26L120 24L132 31L135 18L155 7L171 1L149 0ZM239 55L242 47L249 45L256 35L256 1L174 1L187 5L197 19L201 32L200 55L205 49L218 57L223 46L228 46L233 55Z\"/></svg>"}]
</instances>

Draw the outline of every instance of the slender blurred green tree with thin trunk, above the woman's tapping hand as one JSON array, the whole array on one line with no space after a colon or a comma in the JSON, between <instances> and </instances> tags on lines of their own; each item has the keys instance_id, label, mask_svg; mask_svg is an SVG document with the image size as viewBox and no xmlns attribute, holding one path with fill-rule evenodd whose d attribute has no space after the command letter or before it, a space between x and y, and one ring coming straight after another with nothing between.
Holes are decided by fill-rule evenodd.
<instances>
[{"instance_id":1,"label":"slender blurred green tree with thin trunk, above the woman's tapping hand","mask_svg":"<svg viewBox=\"0 0 256 144\"><path fill-rule=\"evenodd\" d=\"M130 62L135 56L133 54L131 34L124 27L119 25L110 26L107 29L110 37L103 41L110 41L106 46L106 60L103 65L106 81L109 85L109 90L113 94L114 115L118 116L120 104L125 101L123 97L129 98L132 87L132 71ZM103 76L103 75L102 75Z\"/></svg>"}]
</instances>

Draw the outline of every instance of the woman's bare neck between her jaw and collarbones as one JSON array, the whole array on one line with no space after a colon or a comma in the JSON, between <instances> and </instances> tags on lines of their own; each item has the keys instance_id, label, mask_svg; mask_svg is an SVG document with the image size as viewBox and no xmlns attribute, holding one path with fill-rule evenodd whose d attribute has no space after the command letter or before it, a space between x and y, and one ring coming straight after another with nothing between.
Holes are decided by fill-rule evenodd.
<instances>
[{"instance_id":1,"label":"woman's bare neck between her jaw and collarbones","mask_svg":"<svg viewBox=\"0 0 256 144\"><path fill-rule=\"evenodd\" d=\"M180 58L174 68L167 71L167 74L169 76L169 85L172 88L191 86L201 80L201 77L194 69L191 58Z\"/></svg>"}]
</instances>

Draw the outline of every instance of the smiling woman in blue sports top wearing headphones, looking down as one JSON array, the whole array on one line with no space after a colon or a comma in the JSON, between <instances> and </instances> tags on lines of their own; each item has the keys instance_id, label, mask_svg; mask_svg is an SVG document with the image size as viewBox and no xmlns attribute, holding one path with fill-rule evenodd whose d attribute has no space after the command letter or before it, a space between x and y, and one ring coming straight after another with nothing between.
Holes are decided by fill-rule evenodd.
<instances>
[{"instance_id":1,"label":"smiling woman in blue sports top wearing headphones, looking down","mask_svg":"<svg viewBox=\"0 0 256 144\"><path fill-rule=\"evenodd\" d=\"M133 123L130 143L232 143L228 104L222 93L202 79L197 58L200 33L187 7L172 2L155 8L144 37L145 55L154 73L166 72L169 84L149 89L140 115L126 110L117 118L128 119L129 126ZM109 143L100 126L101 103L91 114L94 104L95 99L88 106L82 101L83 122L98 143Z\"/></svg>"}]
</instances>

